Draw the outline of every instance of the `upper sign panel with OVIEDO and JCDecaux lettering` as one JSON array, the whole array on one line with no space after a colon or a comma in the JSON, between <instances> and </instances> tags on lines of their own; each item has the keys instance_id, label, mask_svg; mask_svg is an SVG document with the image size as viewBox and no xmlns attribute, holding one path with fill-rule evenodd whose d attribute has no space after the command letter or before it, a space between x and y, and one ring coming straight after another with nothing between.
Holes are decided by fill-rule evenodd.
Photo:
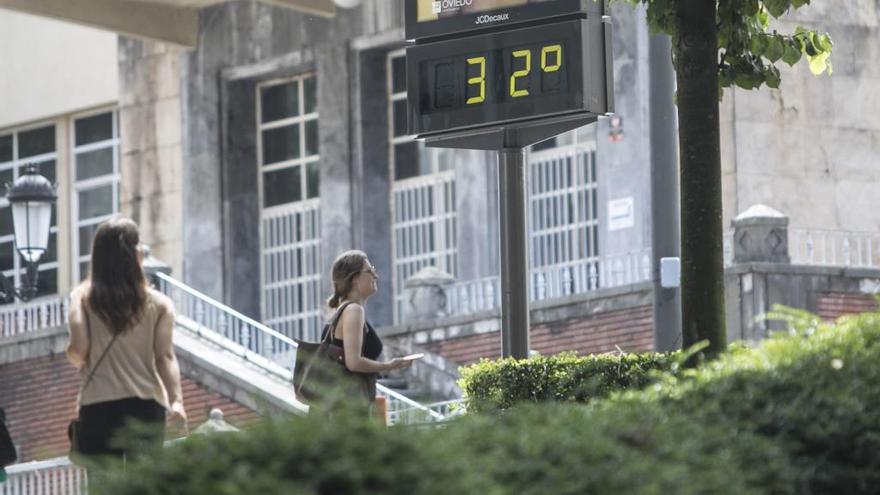
<instances>
[{"instance_id":1,"label":"upper sign panel with OVIEDO and JCDecaux lettering","mask_svg":"<svg viewBox=\"0 0 880 495\"><path fill-rule=\"evenodd\" d=\"M508 28L539 19L579 15L590 10L590 3L596 0L406 0L406 39Z\"/></svg>"}]
</instances>

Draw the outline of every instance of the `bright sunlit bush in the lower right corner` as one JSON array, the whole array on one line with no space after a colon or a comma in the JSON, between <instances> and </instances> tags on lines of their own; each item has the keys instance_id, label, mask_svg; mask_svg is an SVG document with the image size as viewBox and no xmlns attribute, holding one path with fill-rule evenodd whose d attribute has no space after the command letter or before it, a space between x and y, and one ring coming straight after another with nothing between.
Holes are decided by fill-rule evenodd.
<instances>
[{"instance_id":1,"label":"bright sunlit bush in the lower right corner","mask_svg":"<svg viewBox=\"0 0 880 495\"><path fill-rule=\"evenodd\" d=\"M784 449L798 493L876 493L880 313L823 322L801 310L757 350L727 353L635 398L701 425L754 432Z\"/></svg>"}]
</instances>

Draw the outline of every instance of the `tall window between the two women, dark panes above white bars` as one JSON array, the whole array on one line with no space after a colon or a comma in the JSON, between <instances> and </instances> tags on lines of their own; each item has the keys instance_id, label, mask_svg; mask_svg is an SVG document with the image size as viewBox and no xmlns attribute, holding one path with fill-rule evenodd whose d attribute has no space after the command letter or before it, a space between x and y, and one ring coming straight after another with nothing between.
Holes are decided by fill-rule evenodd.
<instances>
[{"instance_id":1,"label":"tall window between the two women, dark panes above white bars","mask_svg":"<svg viewBox=\"0 0 880 495\"><path fill-rule=\"evenodd\" d=\"M257 88L262 318L306 340L323 321L316 84L306 75Z\"/></svg>"}]
</instances>

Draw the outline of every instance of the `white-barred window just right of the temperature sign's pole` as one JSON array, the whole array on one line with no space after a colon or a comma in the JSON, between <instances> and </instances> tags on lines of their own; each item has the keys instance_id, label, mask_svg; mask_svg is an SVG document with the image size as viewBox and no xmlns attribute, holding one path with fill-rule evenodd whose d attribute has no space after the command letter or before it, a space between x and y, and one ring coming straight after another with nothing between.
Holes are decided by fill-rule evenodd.
<instances>
[{"instance_id":1,"label":"white-barred window just right of the temperature sign's pole","mask_svg":"<svg viewBox=\"0 0 880 495\"><path fill-rule=\"evenodd\" d=\"M593 126L529 153L532 300L599 287L599 214Z\"/></svg>"}]
</instances>

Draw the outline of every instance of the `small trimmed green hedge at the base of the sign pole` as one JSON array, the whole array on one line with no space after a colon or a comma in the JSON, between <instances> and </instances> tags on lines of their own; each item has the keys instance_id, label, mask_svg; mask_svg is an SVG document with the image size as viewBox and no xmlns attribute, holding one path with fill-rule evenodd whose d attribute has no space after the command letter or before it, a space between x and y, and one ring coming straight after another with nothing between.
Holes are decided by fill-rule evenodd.
<instances>
[{"instance_id":1,"label":"small trimmed green hedge at the base of the sign pole","mask_svg":"<svg viewBox=\"0 0 880 495\"><path fill-rule=\"evenodd\" d=\"M640 389L658 371L677 369L681 359L680 352L484 359L461 368L459 385L471 412L507 409L521 402L586 403L614 391Z\"/></svg>"}]
</instances>

